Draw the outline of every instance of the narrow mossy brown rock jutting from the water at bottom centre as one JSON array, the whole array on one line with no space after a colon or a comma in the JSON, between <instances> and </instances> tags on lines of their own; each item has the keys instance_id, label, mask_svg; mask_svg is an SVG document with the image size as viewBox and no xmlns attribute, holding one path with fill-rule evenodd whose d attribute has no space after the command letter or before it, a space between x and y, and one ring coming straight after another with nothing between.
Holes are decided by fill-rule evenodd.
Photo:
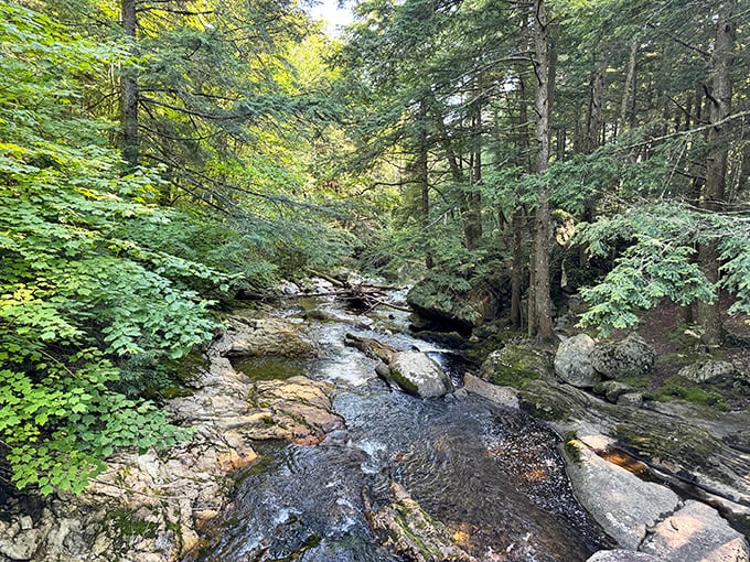
<instances>
[{"instance_id":1,"label":"narrow mossy brown rock jutting from the water at bottom centre","mask_svg":"<svg viewBox=\"0 0 750 562\"><path fill-rule=\"evenodd\" d=\"M389 489L394 501L383 509L373 509L367 490L363 490L363 500L369 528L392 554L410 562L475 562L401 485L394 482Z\"/></svg>"}]
</instances>

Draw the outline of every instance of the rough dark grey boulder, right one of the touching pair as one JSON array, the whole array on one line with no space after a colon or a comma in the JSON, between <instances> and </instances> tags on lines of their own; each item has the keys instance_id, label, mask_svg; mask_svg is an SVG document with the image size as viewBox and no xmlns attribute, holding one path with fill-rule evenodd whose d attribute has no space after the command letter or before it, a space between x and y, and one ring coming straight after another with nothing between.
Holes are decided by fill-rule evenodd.
<instances>
[{"instance_id":1,"label":"rough dark grey boulder, right one of the touching pair","mask_svg":"<svg viewBox=\"0 0 750 562\"><path fill-rule=\"evenodd\" d=\"M590 357L593 369L608 379L647 375L656 363L654 348L638 334L622 342L607 342L596 346Z\"/></svg>"}]
</instances>

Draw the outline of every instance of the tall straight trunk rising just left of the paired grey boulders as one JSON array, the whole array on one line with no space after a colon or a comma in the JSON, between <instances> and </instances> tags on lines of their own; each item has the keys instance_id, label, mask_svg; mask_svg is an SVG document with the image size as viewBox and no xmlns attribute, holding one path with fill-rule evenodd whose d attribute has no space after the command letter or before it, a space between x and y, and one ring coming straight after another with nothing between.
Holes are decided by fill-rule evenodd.
<instances>
[{"instance_id":1,"label":"tall straight trunk rising just left of the paired grey boulders","mask_svg":"<svg viewBox=\"0 0 750 562\"><path fill-rule=\"evenodd\" d=\"M554 76L549 77L548 33L549 22L545 0L534 1L536 24L534 25L534 52L536 75L536 172L544 175L549 166L551 130L550 91L554 91ZM529 300L529 326L532 312L535 316L536 335L539 339L553 337L551 298L549 294L549 186L539 191L534 218L534 302Z\"/></svg>"}]
</instances>

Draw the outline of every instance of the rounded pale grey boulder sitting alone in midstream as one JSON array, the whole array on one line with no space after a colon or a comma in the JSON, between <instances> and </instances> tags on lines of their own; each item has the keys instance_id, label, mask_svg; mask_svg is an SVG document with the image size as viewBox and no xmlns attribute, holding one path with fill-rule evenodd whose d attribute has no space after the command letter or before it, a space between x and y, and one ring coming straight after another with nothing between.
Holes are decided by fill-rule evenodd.
<instances>
[{"instance_id":1,"label":"rounded pale grey boulder sitting alone in midstream","mask_svg":"<svg viewBox=\"0 0 750 562\"><path fill-rule=\"evenodd\" d=\"M419 398L439 398L453 390L442 367L421 352L398 352L390 358L389 380Z\"/></svg>"}]
</instances>

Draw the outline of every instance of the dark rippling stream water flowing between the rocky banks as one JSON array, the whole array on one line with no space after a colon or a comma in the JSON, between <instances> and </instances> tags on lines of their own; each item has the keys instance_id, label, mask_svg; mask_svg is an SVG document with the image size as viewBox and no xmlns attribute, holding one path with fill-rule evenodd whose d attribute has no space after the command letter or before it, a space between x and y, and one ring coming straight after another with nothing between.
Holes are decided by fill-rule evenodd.
<instances>
[{"instance_id":1,"label":"dark rippling stream water flowing between the rocky banks","mask_svg":"<svg viewBox=\"0 0 750 562\"><path fill-rule=\"evenodd\" d=\"M575 562L602 545L572 496L553 432L479 398L420 400L389 390L374 378L376 361L343 345L346 332L425 350L457 381L468 366L408 336L403 313L367 318L326 306L343 322L313 328L323 359L237 367L260 378L304 372L333 382L334 411L346 429L313 447L259 444L261 460L240 475L234 508L212 523L192 561L400 560L375 543L363 516L363 488L382 506L390 480L479 561Z\"/></svg>"}]
</instances>

